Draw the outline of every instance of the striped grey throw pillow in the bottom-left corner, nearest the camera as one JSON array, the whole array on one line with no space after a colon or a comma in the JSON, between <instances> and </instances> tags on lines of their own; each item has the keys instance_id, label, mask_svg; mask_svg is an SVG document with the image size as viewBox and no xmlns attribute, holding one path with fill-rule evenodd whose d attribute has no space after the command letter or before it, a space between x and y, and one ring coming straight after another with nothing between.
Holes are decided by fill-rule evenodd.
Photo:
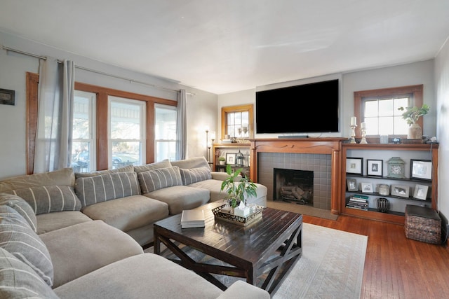
<instances>
[{"instance_id":1,"label":"striped grey throw pillow in the bottom-left corner, nearest the camera","mask_svg":"<svg viewBox=\"0 0 449 299\"><path fill-rule=\"evenodd\" d=\"M29 265L0 248L0 298L48 298L58 295Z\"/></svg>"}]
</instances>

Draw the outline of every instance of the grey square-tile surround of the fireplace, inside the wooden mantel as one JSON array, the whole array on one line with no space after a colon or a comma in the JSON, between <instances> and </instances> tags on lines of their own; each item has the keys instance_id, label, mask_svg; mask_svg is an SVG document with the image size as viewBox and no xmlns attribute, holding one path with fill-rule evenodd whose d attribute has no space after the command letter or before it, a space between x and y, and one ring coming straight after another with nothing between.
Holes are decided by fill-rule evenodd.
<instances>
[{"instance_id":1,"label":"grey square-tile surround of the fireplace, inside the wooden mantel","mask_svg":"<svg viewBox=\"0 0 449 299\"><path fill-rule=\"evenodd\" d=\"M258 182L268 188L267 200L273 200L274 168L314 172L314 207L330 210L330 155L314 153L260 153Z\"/></svg>"}]
</instances>

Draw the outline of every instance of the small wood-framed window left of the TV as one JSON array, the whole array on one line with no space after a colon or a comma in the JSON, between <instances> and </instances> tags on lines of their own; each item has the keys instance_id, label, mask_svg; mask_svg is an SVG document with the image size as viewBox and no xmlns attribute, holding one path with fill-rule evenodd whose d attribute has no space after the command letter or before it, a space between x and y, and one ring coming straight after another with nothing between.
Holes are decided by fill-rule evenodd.
<instances>
[{"instance_id":1,"label":"small wood-framed window left of the TV","mask_svg":"<svg viewBox=\"0 0 449 299\"><path fill-rule=\"evenodd\" d=\"M248 139L252 137L253 105L222 107L222 139L229 137Z\"/></svg>"}]
</instances>

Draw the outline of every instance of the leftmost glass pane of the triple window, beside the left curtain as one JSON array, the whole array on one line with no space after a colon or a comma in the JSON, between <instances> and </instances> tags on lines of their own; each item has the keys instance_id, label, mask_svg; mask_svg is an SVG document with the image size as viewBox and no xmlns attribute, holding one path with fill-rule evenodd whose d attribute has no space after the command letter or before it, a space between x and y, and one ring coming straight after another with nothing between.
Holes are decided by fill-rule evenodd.
<instances>
[{"instance_id":1,"label":"leftmost glass pane of the triple window, beside the left curtain","mask_svg":"<svg viewBox=\"0 0 449 299\"><path fill-rule=\"evenodd\" d=\"M74 172L91 172L96 169L95 104L95 93L75 90L72 130Z\"/></svg>"}]
</instances>

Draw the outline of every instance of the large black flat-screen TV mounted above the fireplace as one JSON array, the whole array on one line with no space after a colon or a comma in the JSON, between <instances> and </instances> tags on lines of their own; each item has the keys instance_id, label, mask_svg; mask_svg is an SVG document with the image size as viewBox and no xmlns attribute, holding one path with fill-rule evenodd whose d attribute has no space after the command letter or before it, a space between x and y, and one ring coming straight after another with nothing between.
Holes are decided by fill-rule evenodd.
<instances>
[{"instance_id":1,"label":"large black flat-screen TV mounted above the fireplace","mask_svg":"<svg viewBox=\"0 0 449 299\"><path fill-rule=\"evenodd\" d=\"M339 132L338 79L255 93L257 134Z\"/></svg>"}]
</instances>

